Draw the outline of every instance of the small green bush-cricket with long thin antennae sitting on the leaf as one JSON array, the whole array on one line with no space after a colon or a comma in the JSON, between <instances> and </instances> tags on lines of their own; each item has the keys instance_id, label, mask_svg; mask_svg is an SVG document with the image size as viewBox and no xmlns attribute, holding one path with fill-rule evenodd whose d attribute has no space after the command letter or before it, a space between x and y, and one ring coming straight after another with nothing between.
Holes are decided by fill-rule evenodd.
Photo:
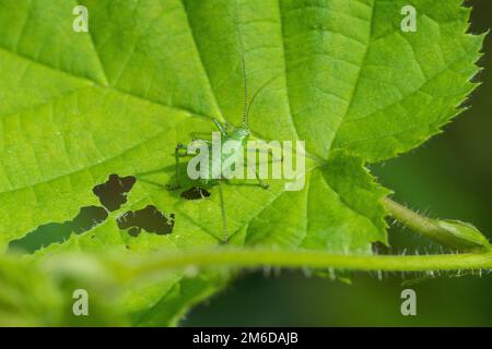
<instances>
[{"instance_id":1,"label":"small green bush-cricket with long thin antennae sitting on the leaf","mask_svg":"<svg viewBox=\"0 0 492 349\"><path fill-rule=\"evenodd\" d=\"M237 36L239 37L241 41L241 58L242 58L242 68L243 68L243 80L244 80L244 112L243 112L243 122L239 127L235 127L231 132L230 125L227 123L222 124L218 119L213 118L212 121L219 132L221 133L221 142L224 144L229 141L235 141L235 144L237 144L237 148L245 149L247 147L247 142L250 136L250 130L248 125L248 115L249 109L258 94L274 79L269 80L266 84L263 84L258 91L254 94L250 103L248 104L248 89L247 89L247 80L246 80L246 62L244 58L244 49L243 49L243 43L238 31L238 20L237 20L237 4L236 4L236 32ZM208 140L200 140L195 139L194 141L203 142L207 144L209 148L209 154L212 153L213 142ZM269 152L270 153L270 152ZM180 188L179 184L179 158L187 157L187 156L195 156L196 154L189 153L188 147L181 143L178 143L175 147L175 160L176 160L176 168L175 168L175 183L172 185L168 185L171 190L175 190ZM225 217L225 205L224 205L224 195L222 190L222 182L226 181L227 173L224 173L221 164L223 164L226 159L231 160L231 157L238 157L238 152L233 152L233 154L224 154L221 148L221 156L220 158L211 158L209 160L209 173L210 176L208 178L200 178L199 181L203 185L214 185L218 184L219 186L219 195L220 195L220 206L222 212L222 226L223 226L223 236L222 236L222 243L227 243L229 241L229 234L227 234L227 227L226 227L226 217ZM220 163L219 163L220 161ZM219 163L219 164L218 164ZM220 172L218 172L220 171ZM263 183L261 179L258 176L258 172L255 169L255 176L258 181L258 185L265 190L269 188L268 184Z\"/></svg>"}]
</instances>

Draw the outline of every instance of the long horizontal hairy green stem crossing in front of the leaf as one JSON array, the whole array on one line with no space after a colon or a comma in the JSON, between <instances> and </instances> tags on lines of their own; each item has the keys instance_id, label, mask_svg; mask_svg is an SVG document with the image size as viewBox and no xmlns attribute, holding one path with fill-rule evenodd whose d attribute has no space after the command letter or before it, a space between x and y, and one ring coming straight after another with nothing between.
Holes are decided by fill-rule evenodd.
<instances>
[{"instance_id":1,"label":"long horizontal hairy green stem crossing in front of the leaf","mask_svg":"<svg viewBox=\"0 0 492 349\"><path fill-rule=\"evenodd\" d=\"M136 274L173 269L235 267L308 267L351 270L425 272L491 269L492 252L440 255L342 255L315 251L211 249L159 254L132 266Z\"/></svg>"}]
</instances>

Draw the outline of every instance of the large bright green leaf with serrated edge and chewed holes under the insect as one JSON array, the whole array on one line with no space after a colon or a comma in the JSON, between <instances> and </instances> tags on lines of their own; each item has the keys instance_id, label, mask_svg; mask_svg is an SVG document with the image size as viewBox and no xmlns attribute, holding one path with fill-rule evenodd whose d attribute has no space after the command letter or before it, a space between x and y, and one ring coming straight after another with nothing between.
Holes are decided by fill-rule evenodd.
<instances>
[{"instance_id":1,"label":"large bright green leaf with serrated edge and chewed holes under the insect","mask_svg":"<svg viewBox=\"0 0 492 349\"><path fill-rule=\"evenodd\" d=\"M401 33L408 2L80 1L89 33L72 31L75 1L1 2L0 250L98 205L92 188L110 173L137 178L128 203L36 257L216 245L216 189L184 201L164 186L176 143L212 131L211 117L239 122L244 51L250 95L278 77L251 107L253 134L305 141L308 172L298 192L281 181L269 191L226 185L231 243L370 253L386 241L388 191L365 161L418 146L461 111L483 39L465 34L469 10L459 0L410 1L418 31ZM175 213L173 233L131 238L118 229L118 215L149 204ZM133 323L174 323L224 284L221 275L192 280L169 274L122 302Z\"/></svg>"}]
</instances>

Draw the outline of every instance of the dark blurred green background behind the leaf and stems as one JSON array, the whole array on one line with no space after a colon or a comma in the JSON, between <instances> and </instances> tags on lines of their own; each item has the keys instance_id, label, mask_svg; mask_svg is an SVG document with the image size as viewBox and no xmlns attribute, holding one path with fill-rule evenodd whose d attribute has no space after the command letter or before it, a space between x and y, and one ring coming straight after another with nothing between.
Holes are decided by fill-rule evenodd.
<instances>
[{"instance_id":1,"label":"dark blurred green background behind the leaf and stems","mask_svg":"<svg viewBox=\"0 0 492 349\"><path fill-rule=\"evenodd\" d=\"M446 0L438 0L446 1ZM492 1L473 7L471 33L492 27ZM492 36L485 38L484 70L476 77L472 108L445 128L445 133L413 152L372 170L396 200L430 216L475 224L492 238ZM430 241L394 227L391 250ZM406 278L414 276L407 275ZM244 273L232 286L194 309L185 326L492 326L492 274L441 277L402 286L401 275L355 275L344 285L302 273ZM400 292L417 292L417 316L402 316Z\"/></svg>"}]
</instances>

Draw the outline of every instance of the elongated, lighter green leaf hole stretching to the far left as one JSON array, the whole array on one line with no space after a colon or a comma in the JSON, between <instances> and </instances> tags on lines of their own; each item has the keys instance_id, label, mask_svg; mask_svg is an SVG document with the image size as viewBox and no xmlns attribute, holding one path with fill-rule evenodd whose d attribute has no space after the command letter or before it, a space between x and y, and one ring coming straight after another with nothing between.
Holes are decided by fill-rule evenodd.
<instances>
[{"instance_id":1,"label":"elongated, lighter green leaf hole stretching to the far left","mask_svg":"<svg viewBox=\"0 0 492 349\"><path fill-rule=\"evenodd\" d=\"M37 227L25 237L9 243L9 250L33 253L51 243L62 243L70 238L72 232L82 233L102 224L107 218L107 212L103 207L82 207L72 220L63 222L49 222Z\"/></svg>"}]
</instances>

